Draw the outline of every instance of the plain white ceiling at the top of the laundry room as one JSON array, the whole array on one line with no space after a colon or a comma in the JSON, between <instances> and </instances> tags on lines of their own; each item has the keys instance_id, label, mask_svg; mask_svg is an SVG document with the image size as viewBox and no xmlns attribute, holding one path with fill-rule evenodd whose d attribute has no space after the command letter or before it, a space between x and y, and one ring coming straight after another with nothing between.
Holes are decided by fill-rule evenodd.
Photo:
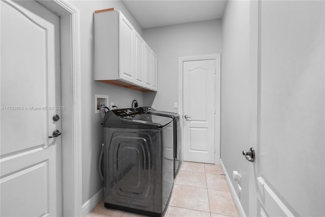
<instances>
[{"instance_id":1,"label":"plain white ceiling at the top of the laundry room","mask_svg":"<svg viewBox=\"0 0 325 217\"><path fill-rule=\"evenodd\" d=\"M123 0L142 28L220 19L226 1L138 1Z\"/></svg>"}]
</instances>

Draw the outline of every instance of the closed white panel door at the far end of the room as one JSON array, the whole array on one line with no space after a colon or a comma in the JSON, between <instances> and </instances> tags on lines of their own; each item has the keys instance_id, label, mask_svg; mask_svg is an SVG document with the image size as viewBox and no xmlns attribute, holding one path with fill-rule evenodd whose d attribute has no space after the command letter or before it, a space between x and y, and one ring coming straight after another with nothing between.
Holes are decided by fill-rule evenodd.
<instances>
[{"instance_id":1,"label":"closed white panel door at the far end of the room","mask_svg":"<svg viewBox=\"0 0 325 217\"><path fill-rule=\"evenodd\" d=\"M214 164L215 59L183 63L184 161Z\"/></svg>"}]
</instances>

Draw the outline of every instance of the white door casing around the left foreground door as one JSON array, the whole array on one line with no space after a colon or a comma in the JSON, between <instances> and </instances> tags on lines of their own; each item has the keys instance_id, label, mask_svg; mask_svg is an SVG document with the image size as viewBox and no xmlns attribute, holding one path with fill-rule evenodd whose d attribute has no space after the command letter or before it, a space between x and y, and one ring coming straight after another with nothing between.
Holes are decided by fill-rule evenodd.
<instances>
[{"instance_id":1,"label":"white door casing around the left foreground door","mask_svg":"<svg viewBox=\"0 0 325 217\"><path fill-rule=\"evenodd\" d=\"M66 107L66 110L62 111L61 118L62 129L64 129L62 132L62 203L64 201L62 215L80 216L82 206L80 12L68 1L37 2L60 16L61 92L64 92L61 102Z\"/></svg>"}]
</instances>

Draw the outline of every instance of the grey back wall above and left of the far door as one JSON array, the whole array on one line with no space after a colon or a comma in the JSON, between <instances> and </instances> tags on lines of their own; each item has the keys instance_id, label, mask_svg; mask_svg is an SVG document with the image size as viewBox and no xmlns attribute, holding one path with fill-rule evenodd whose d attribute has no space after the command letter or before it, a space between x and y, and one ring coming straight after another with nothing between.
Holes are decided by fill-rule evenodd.
<instances>
[{"instance_id":1,"label":"grey back wall above and left of the far door","mask_svg":"<svg viewBox=\"0 0 325 217\"><path fill-rule=\"evenodd\" d=\"M221 20L147 28L143 38L158 56L158 91L145 93L144 104L178 112L178 57L221 53Z\"/></svg>"}]
</instances>

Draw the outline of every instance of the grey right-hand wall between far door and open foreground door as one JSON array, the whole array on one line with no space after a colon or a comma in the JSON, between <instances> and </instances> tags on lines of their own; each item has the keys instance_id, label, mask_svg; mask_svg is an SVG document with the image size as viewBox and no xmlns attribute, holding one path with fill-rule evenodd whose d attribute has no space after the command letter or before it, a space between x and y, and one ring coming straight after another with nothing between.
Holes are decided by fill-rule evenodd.
<instances>
[{"instance_id":1,"label":"grey right-hand wall between far door and open foreground door","mask_svg":"<svg viewBox=\"0 0 325 217\"><path fill-rule=\"evenodd\" d=\"M241 204L248 214L249 149L249 2L228 1L222 18L221 160L232 177L242 175Z\"/></svg>"}]
</instances>

